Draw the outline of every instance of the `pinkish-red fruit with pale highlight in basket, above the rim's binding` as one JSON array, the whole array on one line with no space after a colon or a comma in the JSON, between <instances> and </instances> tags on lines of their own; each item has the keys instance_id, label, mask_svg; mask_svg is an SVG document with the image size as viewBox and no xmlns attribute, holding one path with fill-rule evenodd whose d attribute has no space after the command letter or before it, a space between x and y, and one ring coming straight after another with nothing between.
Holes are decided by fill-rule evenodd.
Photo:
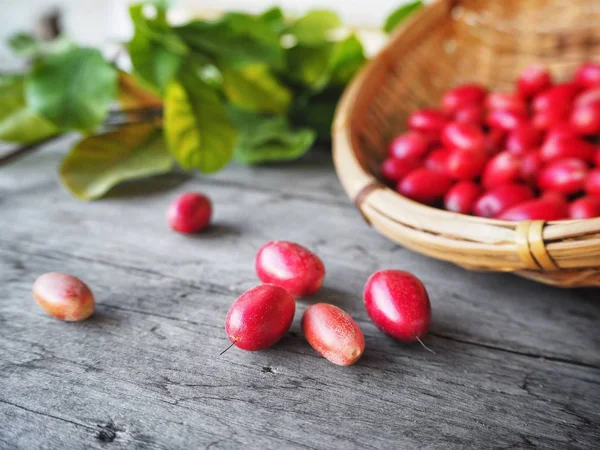
<instances>
[{"instance_id":1,"label":"pinkish-red fruit with pale highlight in basket, above the rim's binding","mask_svg":"<svg viewBox=\"0 0 600 450\"><path fill-rule=\"evenodd\" d=\"M580 159L557 159L541 170L538 186L544 191L575 194L583 190L587 173L587 164Z\"/></svg>"}]
</instances>

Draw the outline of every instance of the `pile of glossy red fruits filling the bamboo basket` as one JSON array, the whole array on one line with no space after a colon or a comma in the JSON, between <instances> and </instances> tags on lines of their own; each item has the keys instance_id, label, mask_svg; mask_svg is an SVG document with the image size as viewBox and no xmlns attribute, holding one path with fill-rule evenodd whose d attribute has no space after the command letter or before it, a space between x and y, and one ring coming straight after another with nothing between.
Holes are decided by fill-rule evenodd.
<instances>
[{"instance_id":1,"label":"pile of glossy red fruits filling the bamboo basket","mask_svg":"<svg viewBox=\"0 0 600 450\"><path fill-rule=\"evenodd\" d=\"M503 220L600 216L600 63L564 83L530 66L515 92L456 86L408 128L381 166L405 197Z\"/></svg>"}]
</instances>

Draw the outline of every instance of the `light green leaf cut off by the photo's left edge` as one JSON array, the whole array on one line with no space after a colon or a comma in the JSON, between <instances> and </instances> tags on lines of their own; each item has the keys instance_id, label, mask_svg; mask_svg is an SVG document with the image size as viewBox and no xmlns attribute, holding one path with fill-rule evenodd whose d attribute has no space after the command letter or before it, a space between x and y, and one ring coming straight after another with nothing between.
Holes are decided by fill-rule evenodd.
<instances>
[{"instance_id":1,"label":"light green leaf cut off by the photo's left edge","mask_svg":"<svg viewBox=\"0 0 600 450\"><path fill-rule=\"evenodd\" d=\"M0 76L0 141L30 144L58 129L25 104L22 76Z\"/></svg>"}]
</instances>

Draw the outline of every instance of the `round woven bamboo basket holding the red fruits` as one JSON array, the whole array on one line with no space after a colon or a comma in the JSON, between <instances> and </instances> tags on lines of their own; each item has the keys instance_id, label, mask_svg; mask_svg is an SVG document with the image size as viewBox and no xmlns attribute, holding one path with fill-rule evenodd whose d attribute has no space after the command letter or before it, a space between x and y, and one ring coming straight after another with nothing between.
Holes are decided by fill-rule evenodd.
<instances>
[{"instance_id":1,"label":"round woven bamboo basket holding the red fruits","mask_svg":"<svg viewBox=\"0 0 600 450\"><path fill-rule=\"evenodd\" d=\"M470 270L600 286L600 218L506 222L455 214L383 185L379 165L408 115L457 84L512 90L533 62L555 78L600 59L598 0L437 1L422 8L348 86L333 125L334 162L365 220L393 241Z\"/></svg>"}]
</instances>

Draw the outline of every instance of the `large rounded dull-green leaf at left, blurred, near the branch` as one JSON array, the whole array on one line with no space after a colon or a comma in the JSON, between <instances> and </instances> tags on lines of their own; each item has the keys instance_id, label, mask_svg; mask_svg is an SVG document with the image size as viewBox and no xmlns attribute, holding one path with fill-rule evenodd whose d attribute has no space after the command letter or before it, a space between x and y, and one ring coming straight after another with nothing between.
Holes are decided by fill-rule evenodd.
<instances>
[{"instance_id":1,"label":"large rounded dull-green leaf at left, blurred, near the branch","mask_svg":"<svg viewBox=\"0 0 600 450\"><path fill-rule=\"evenodd\" d=\"M91 48L38 61L25 82L27 104L61 129L94 129L116 93L117 71Z\"/></svg>"}]
</instances>

